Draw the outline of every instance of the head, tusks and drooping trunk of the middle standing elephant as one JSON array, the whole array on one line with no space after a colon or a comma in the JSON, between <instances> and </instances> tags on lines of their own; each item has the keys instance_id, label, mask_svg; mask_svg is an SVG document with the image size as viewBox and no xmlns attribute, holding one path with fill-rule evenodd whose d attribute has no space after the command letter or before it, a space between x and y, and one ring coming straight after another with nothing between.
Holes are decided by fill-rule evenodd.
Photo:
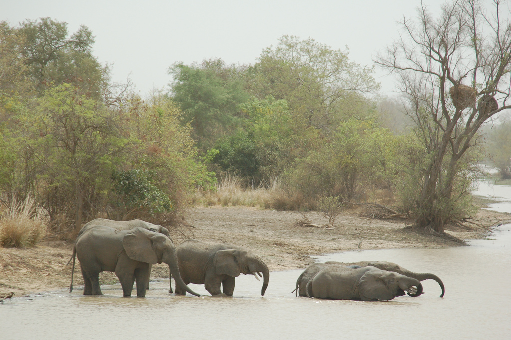
<instances>
[{"instance_id":1,"label":"head, tusks and drooping trunk of the middle standing elephant","mask_svg":"<svg viewBox=\"0 0 511 340\"><path fill-rule=\"evenodd\" d=\"M268 288L270 270L259 256L250 252L237 248L219 250L213 257L213 266L217 275L237 277L240 274L252 274L258 280L261 280L259 277L264 277L261 295L264 295Z\"/></svg>"}]
</instances>

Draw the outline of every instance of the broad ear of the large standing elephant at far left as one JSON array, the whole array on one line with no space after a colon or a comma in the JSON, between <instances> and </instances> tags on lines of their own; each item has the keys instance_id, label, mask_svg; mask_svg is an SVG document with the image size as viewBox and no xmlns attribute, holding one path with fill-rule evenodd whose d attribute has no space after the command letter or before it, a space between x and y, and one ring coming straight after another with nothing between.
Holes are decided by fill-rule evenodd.
<instances>
[{"instance_id":1,"label":"broad ear of the large standing elephant at far left","mask_svg":"<svg viewBox=\"0 0 511 340\"><path fill-rule=\"evenodd\" d=\"M133 228L123 237L123 246L130 259L155 264L158 257L154 251L151 237L154 232L141 227Z\"/></svg>"}]
</instances>

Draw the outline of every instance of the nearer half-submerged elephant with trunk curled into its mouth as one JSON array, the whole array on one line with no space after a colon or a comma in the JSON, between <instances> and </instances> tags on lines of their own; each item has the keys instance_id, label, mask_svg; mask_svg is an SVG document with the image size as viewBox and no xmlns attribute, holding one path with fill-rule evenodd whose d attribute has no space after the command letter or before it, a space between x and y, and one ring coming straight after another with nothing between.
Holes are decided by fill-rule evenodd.
<instances>
[{"instance_id":1,"label":"nearer half-submerged elephant with trunk curled into its mouth","mask_svg":"<svg viewBox=\"0 0 511 340\"><path fill-rule=\"evenodd\" d=\"M327 264L307 282L309 298L386 301L407 294L422 294L419 280L374 266L350 268Z\"/></svg>"}]
</instances>

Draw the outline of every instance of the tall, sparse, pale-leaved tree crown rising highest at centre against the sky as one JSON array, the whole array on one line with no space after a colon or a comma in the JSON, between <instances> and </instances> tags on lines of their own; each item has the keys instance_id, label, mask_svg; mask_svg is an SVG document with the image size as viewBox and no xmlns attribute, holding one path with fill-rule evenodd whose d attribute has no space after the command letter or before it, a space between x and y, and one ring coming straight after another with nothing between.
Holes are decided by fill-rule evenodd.
<instances>
[{"instance_id":1,"label":"tall, sparse, pale-leaved tree crown rising highest at centre against the sky","mask_svg":"<svg viewBox=\"0 0 511 340\"><path fill-rule=\"evenodd\" d=\"M373 105L364 95L379 88L373 69L350 61L347 49L287 35L246 73L255 79L247 81L254 95L285 99L294 115L327 134L342 120L371 115Z\"/></svg>"}]
</instances>

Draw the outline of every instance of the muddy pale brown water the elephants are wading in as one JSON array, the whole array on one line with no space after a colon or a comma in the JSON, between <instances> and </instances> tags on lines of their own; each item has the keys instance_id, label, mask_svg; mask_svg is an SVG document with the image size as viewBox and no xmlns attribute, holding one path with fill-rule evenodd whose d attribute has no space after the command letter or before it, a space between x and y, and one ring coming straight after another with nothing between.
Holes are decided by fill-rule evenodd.
<instances>
[{"instance_id":1,"label":"muddy pale brown water the elephants are wading in","mask_svg":"<svg viewBox=\"0 0 511 340\"><path fill-rule=\"evenodd\" d=\"M502 192L501 192L502 191ZM511 187L481 186L511 211ZM495 209L492 207L492 209ZM497 209L495 209L497 210ZM345 252L318 261L381 260L438 275L425 293L388 302L296 298L301 270L273 271L262 282L240 276L232 298L175 296L168 280L152 281L146 298L122 298L119 284L104 296L80 287L14 298L0 305L1 339L503 339L511 333L511 225L471 246ZM201 285L190 287L207 294Z\"/></svg>"}]
</instances>

